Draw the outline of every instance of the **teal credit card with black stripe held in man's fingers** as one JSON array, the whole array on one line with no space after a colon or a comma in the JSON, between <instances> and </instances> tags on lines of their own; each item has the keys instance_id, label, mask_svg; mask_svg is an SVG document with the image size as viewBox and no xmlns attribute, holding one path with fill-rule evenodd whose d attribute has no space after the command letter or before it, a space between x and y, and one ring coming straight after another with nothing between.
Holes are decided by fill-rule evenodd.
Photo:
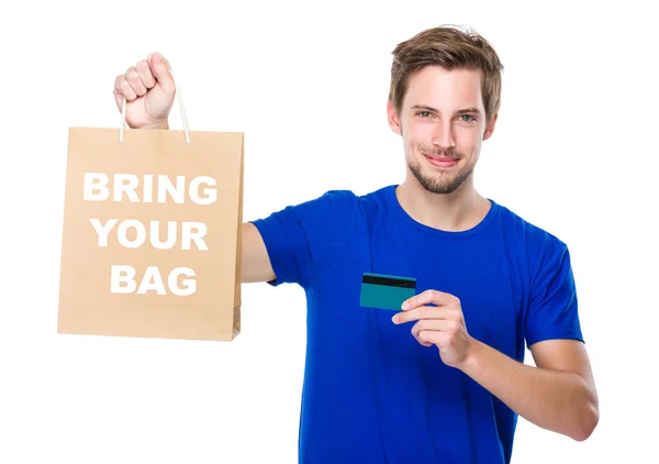
<instances>
[{"instance_id":1,"label":"teal credit card with black stripe held in man's fingers","mask_svg":"<svg viewBox=\"0 0 659 464\"><path fill-rule=\"evenodd\" d=\"M416 279L364 273L359 305L366 308L400 310L416 294Z\"/></svg>"}]
</instances>

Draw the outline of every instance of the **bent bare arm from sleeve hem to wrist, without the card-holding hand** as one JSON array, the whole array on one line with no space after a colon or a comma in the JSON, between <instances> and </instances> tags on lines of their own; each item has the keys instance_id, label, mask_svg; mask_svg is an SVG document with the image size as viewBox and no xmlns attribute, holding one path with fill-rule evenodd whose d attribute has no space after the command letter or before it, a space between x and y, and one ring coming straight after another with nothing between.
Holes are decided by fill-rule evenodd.
<instances>
[{"instance_id":1,"label":"bent bare arm from sleeve hem to wrist, without the card-holding hand","mask_svg":"<svg viewBox=\"0 0 659 464\"><path fill-rule=\"evenodd\" d=\"M537 367L479 341L472 343L456 367L529 422L577 441L591 435L599 421L599 400L582 342L535 343L529 350Z\"/></svg>"}]
</instances>

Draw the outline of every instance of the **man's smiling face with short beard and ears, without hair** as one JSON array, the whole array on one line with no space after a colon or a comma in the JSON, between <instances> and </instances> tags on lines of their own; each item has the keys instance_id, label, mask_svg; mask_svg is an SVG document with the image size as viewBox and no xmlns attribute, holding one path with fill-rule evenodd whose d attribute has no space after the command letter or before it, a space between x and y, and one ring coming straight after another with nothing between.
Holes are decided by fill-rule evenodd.
<instances>
[{"instance_id":1,"label":"man's smiling face with short beard and ears, without hair","mask_svg":"<svg viewBox=\"0 0 659 464\"><path fill-rule=\"evenodd\" d=\"M402 135L410 172L426 190L450 194L470 179L485 126L479 70L426 66L407 79L400 115L388 106L391 129Z\"/></svg>"}]
</instances>

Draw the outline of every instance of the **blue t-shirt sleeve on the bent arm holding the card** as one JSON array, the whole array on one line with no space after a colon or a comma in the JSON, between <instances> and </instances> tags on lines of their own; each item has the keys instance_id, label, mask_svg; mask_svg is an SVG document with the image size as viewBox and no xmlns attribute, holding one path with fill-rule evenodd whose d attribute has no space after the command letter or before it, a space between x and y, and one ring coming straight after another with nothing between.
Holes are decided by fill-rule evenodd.
<instances>
[{"instance_id":1,"label":"blue t-shirt sleeve on the bent arm holding the card","mask_svg":"<svg viewBox=\"0 0 659 464\"><path fill-rule=\"evenodd\" d=\"M552 339L583 342L570 252L556 237L548 239L532 280L524 332L527 346Z\"/></svg>"}]
</instances>

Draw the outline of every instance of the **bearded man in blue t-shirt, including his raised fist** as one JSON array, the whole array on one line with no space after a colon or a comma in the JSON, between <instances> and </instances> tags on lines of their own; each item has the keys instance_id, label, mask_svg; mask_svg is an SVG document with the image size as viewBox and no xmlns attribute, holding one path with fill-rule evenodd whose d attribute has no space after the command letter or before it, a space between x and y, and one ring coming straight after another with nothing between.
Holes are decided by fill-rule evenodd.
<instances>
[{"instance_id":1,"label":"bearded man in blue t-shirt, including his raised fist","mask_svg":"<svg viewBox=\"0 0 659 464\"><path fill-rule=\"evenodd\" d=\"M308 298L300 462L509 463L517 415L579 441L593 432L568 248L473 186L501 71L476 33L401 43L388 117L404 183L244 224L243 281L298 284ZM118 76L114 93L130 126L168 129L163 56ZM417 295L401 311L361 307L367 272L414 277ZM523 364L525 343L537 367Z\"/></svg>"}]
</instances>

